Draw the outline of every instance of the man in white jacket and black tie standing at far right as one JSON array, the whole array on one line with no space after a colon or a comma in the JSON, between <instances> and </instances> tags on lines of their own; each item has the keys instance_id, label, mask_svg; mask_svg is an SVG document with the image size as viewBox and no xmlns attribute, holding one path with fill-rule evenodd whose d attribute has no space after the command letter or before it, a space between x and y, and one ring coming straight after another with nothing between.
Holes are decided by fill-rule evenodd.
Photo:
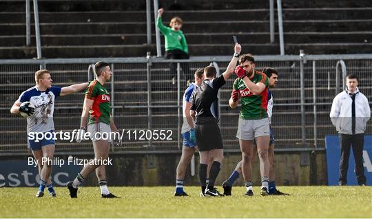
<instances>
[{"instance_id":1,"label":"man in white jacket and black tie standing at far right","mask_svg":"<svg viewBox=\"0 0 372 220\"><path fill-rule=\"evenodd\" d=\"M363 145L366 122L371 118L369 102L358 89L358 76L349 74L347 87L333 99L331 113L332 124L340 135L340 186L347 184L347 169L349 168L350 149L353 146L355 159L355 174L358 185L366 184L363 166Z\"/></svg>"}]
</instances>

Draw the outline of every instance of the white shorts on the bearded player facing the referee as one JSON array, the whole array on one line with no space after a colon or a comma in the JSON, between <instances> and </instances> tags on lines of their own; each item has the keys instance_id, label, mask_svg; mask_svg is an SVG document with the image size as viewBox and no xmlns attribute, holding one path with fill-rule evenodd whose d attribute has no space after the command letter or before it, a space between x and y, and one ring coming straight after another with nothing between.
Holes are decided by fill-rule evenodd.
<instances>
[{"instance_id":1,"label":"white shorts on the bearded player facing the referee","mask_svg":"<svg viewBox=\"0 0 372 220\"><path fill-rule=\"evenodd\" d=\"M239 118L236 137L240 140L254 140L255 137L270 136L269 118L246 120Z\"/></svg>"}]
</instances>

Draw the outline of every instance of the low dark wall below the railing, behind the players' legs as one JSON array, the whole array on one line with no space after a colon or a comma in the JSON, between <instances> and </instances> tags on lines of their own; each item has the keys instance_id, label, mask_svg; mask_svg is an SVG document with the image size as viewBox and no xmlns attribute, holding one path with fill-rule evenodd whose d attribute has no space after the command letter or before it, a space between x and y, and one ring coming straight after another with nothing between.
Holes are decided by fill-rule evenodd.
<instances>
[{"instance_id":1,"label":"low dark wall below the railing, behind the players' legs","mask_svg":"<svg viewBox=\"0 0 372 220\"><path fill-rule=\"evenodd\" d=\"M76 157L76 155L72 156ZM58 155L56 157L67 160L67 156ZM175 184L176 167L180 159L180 154L114 154L110 155L110 158L112 158L112 165L106 168L107 180L110 186L173 186ZM12 160L14 163L14 160L26 161L27 159L27 156L6 157L1 158L1 161ZM79 159L92 159L92 155L80 155ZM191 175L189 166L185 177L185 186L198 186L197 154L195 159L195 175ZM220 186L229 177L240 159L240 153L225 153L224 164L216 180L216 186ZM254 185L259 186L260 166L258 157L254 158L252 167ZM36 172L36 168L34 169ZM70 172L69 175L69 178L73 179L76 173ZM22 177L21 173L15 176ZM19 180L22 181L22 179ZM6 177L3 181L6 182L7 186ZM278 186L327 185L327 162L324 151L276 153L276 184ZM96 185L96 176L92 174L85 181L85 186ZM240 175L236 186L243 186L242 175Z\"/></svg>"}]
</instances>

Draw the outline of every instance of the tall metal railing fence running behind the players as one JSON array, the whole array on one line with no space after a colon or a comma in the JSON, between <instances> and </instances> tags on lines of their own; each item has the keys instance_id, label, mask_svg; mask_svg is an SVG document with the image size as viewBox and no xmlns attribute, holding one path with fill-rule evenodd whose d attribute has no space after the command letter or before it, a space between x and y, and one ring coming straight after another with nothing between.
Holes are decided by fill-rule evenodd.
<instances>
[{"instance_id":1,"label":"tall metal railing fence running behind the players","mask_svg":"<svg viewBox=\"0 0 372 220\"><path fill-rule=\"evenodd\" d=\"M324 135L336 134L329 120L331 102L337 90L336 66L344 61L349 73L360 77L360 91L372 101L372 54L305 55L303 56L256 56L256 69L273 67L279 72L279 83L272 90L274 107L272 127L278 151L301 148L323 148ZM186 89L181 65L178 65L176 84L172 83L169 62L188 63L191 71L210 63L225 71L230 56L200 56L189 60L165 60L147 58L70 58L41 60L0 60L0 152L25 153L25 120L19 115L11 116L10 107L19 94L34 85L34 72L43 66L52 72L54 85L67 86L92 78L92 63L106 61L112 64L113 78L107 84L112 93L112 109L116 124L126 131L166 129L172 131L172 140L124 140L115 152L174 152L180 148L182 123L181 97ZM88 71L87 71L88 69ZM329 74L331 73L331 74ZM331 75L331 78L329 77ZM221 132L227 151L238 151L236 127L237 109L230 109L228 100L234 76L220 90ZM302 83L301 83L302 82ZM54 122L56 131L72 131L79 126L83 93L71 94L56 100ZM366 133L372 133L369 122ZM281 149L281 150L280 150ZM88 152L90 142L57 141L56 151Z\"/></svg>"}]
</instances>

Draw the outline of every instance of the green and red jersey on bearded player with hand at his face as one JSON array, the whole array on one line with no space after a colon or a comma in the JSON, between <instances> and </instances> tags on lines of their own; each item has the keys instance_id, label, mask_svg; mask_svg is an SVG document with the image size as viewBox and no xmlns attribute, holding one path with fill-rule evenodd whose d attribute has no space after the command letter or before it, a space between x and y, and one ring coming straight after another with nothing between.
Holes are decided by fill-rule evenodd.
<instances>
[{"instance_id":1,"label":"green and red jersey on bearded player with hand at his face","mask_svg":"<svg viewBox=\"0 0 372 220\"><path fill-rule=\"evenodd\" d=\"M245 86L241 78L236 78L233 85L233 90L239 91L242 108L240 109L239 117L246 120L258 120L267 118L267 89L269 87L269 78L262 72L254 71L254 76L249 78L252 83L263 83L265 89L258 95L254 95Z\"/></svg>"}]
</instances>

